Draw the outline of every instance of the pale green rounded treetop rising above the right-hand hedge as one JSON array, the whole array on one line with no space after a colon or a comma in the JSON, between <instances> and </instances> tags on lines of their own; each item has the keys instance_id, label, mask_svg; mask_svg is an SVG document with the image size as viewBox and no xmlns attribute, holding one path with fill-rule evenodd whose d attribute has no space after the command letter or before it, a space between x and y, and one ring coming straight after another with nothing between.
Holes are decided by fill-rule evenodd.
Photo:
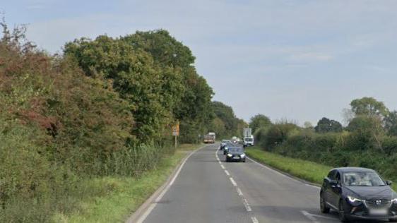
<instances>
[{"instance_id":1,"label":"pale green rounded treetop rising above the right-hand hedge","mask_svg":"<svg viewBox=\"0 0 397 223\"><path fill-rule=\"evenodd\" d=\"M389 111L383 102L375 100L373 97L362 97L350 102L355 116L386 116Z\"/></svg>"}]
</instances>

